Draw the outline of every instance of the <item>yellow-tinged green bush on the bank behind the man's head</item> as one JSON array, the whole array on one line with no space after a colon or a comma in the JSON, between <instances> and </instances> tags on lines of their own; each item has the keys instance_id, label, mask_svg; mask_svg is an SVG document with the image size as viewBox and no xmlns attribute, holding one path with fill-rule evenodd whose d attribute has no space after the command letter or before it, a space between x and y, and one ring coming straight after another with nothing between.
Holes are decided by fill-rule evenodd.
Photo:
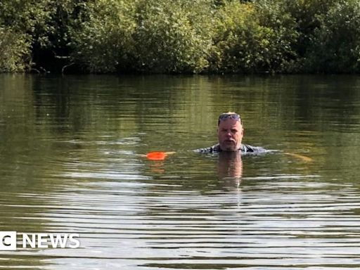
<instances>
[{"instance_id":1,"label":"yellow-tinged green bush on the bank behind the man's head","mask_svg":"<svg viewBox=\"0 0 360 270\"><path fill-rule=\"evenodd\" d=\"M219 11L215 70L289 72L293 69L296 24L280 3L227 3Z\"/></svg>"}]
</instances>

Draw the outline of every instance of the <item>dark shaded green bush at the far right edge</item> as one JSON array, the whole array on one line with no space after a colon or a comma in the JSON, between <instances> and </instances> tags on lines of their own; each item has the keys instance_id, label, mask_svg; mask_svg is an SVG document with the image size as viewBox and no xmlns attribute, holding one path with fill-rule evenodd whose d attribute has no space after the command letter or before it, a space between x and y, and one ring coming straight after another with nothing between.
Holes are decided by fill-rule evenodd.
<instances>
[{"instance_id":1,"label":"dark shaded green bush at the far right edge","mask_svg":"<svg viewBox=\"0 0 360 270\"><path fill-rule=\"evenodd\" d=\"M341 0L314 31L307 54L311 72L360 72L360 2Z\"/></svg>"}]
</instances>

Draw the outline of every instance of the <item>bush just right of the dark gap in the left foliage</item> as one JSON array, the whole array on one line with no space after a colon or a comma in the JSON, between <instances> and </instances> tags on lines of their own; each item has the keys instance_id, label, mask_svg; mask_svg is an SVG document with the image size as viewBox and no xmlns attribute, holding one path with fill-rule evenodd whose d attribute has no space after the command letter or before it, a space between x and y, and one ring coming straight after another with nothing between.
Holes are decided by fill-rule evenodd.
<instances>
[{"instance_id":1,"label":"bush just right of the dark gap in the left foliage","mask_svg":"<svg viewBox=\"0 0 360 270\"><path fill-rule=\"evenodd\" d=\"M79 30L70 31L72 56L90 72L115 72L133 63L136 0L98 0L84 9Z\"/></svg>"}]
</instances>

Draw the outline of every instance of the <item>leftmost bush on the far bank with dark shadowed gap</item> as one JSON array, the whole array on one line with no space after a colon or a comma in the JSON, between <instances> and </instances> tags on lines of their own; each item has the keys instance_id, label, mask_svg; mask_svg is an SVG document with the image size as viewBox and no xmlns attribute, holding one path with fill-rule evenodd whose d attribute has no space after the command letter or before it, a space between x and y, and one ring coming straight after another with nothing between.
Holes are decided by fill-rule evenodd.
<instances>
[{"instance_id":1,"label":"leftmost bush on the far bank with dark shadowed gap","mask_svg":"<svg viewBox=\"0 0 360 270\"><path fill-rule=\"evenodd\" d=\"M79 24L82 0L1 0L0 35L2 50L0 72L31 70L44 63L53 64L59 54L68 55L69 30ZM12 53L14 58L9 58ZM50 58L49 58L50 56ZM10 60L7 60L10 59ZM15 64L13 64L15 63Z\"/></svg>"}]
</instances>

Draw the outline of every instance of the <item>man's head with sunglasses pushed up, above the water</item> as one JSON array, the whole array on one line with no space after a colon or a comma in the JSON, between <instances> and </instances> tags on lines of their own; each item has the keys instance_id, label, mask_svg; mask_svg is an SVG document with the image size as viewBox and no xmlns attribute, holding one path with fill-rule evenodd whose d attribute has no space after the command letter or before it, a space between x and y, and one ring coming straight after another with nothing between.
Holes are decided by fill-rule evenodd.
<instances>
[{"instance_id":1,"label":"man's head with sunglasses pushed up, above the water","mask_svg":"<svg viewBox=\"0 0 360 270\"><path fill-rule=\"evenodd\" d=\"M237 151L243 140L243 124L236 113L221 113L217 123L217 138L223 151Z\"/></svg>"}]
</instances>

